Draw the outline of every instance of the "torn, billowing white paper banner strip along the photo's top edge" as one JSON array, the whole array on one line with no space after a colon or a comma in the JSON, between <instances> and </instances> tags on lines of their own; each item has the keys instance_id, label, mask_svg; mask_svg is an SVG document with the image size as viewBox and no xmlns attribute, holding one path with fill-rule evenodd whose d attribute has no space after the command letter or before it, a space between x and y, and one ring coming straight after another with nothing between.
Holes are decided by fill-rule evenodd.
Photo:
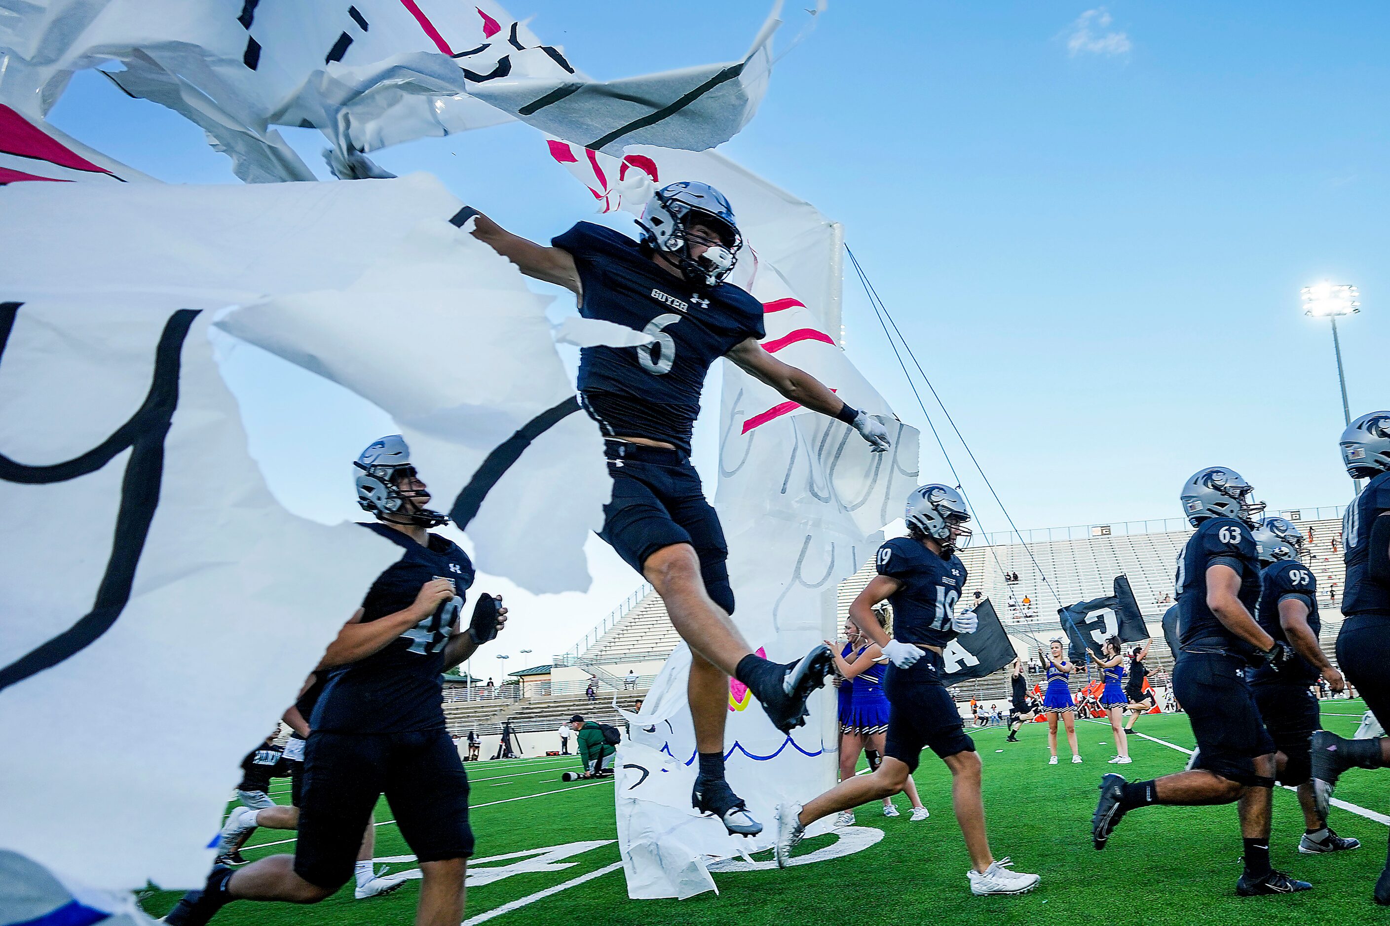
<instances>
[{"instance_id":1,"label":"torn, billowing white paper banner strip along the photo's top edge","mask_svg":"<svg viewBox=\"0 0 1390 926\"><path fill-rule=\"evenodd\" d=\"M756 111L776 15L741 61L598 82L486 0L35 0L0 19L0 101L42 117L74 71L120 61L113 81L252 182L313 178L271 125L318 128L339 154L512 118L614 154L702 150Z\"/></svg>"}]
</instances>

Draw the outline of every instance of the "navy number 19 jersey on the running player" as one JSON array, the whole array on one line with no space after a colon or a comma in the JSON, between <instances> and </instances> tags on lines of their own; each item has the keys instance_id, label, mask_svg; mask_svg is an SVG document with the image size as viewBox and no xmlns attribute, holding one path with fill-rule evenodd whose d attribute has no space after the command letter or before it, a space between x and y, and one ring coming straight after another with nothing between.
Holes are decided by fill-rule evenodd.
<instances>
[{"instance_id":1,"label":"navy number 19 jersey on the running player","mask_svg":"<svg viewBox=\"0 0 1390 926\"><path fill-rule=\"evenodd\" d=\"M894 639L934 647L944 647L955 639L951 618L966 579L965 565L955 554L942 559L920 540L894 537L878 547L874 565L878 575L902 583L888 597Z\"/></svg>"}]
</instances>

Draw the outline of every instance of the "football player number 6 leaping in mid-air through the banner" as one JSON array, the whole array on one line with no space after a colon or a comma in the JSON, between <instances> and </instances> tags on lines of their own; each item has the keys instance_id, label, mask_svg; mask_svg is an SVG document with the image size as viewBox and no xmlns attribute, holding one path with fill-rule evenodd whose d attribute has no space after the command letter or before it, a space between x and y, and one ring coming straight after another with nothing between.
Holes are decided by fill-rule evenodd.
<instances>
[{"instance_id":1,"label":"football player number 6 leaping in mid-air through the banner","mask_svg":"<svg viewBox=\"0 0 1390 926\"><path fill-rule=\"evenodd\" d=\"M826 646L795 664L770 662L753 654L730 621L724 532L689 462L701 389L710 364L727 357L787 398L848 423L876 451L888 447L887 430L759 344L762 303L724 279L742 236L714 187L682 180L656 190L641 219L641 242L580 222L542 247L467 214L475 215L473 233L523 273L573 292L581 315L653 339L580 354L580 398L603 432L613 476L599 536L646 576L691 647L688 700L699 751L692 804L723 819L731 833L759 833L762 823L724 782L728 676L748 686L777 729L790 732L805 722L806 698L834 662Z\"/></svg>"}]
</instances>

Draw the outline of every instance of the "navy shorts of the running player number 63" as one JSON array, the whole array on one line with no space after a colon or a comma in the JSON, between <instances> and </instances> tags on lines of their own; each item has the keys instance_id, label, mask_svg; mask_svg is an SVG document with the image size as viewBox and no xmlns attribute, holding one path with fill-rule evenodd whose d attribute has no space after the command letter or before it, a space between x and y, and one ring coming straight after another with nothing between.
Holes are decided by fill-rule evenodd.
<instances>
[{"instance_id":1,"label":"navy shorts of the running player number 63","mask_svg":"<svg viewBox=\"0 0 1390 926\"><path fill-rule=\"evenodd\" d=\"M1223 653L1182 653L1173 666L1173 694L1197 737L1195 768L1257 784L1254 759L1272 755L1276 747L1245 682L1245 668L1244 659Z\"/></svg>"}]
</instances>

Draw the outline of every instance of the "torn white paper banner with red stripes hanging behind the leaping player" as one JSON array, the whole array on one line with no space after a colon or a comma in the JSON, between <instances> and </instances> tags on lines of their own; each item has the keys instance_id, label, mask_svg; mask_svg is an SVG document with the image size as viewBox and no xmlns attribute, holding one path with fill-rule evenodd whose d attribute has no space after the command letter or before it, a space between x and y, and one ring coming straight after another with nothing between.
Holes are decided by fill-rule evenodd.
<instances>
[{"instance_id":1,"label":"torn white paper banner with red stripes hanging behind the leaping player","mask_svg":"<svg viewBox=\"0 0 1390 926\"><path fill-rule=\"evenodd\" d=\"M713 151L634 146L619 160L556 139L549 147L603 211L632 208L631 190L641 194L631 179L638 172L655 185L703 180L719 187L746 240L731 279L763 303L763 347L888 426L894 446L874 454L842 422L809 414L733 364L723 365L714 504L730 548L734 622L759 654L780 662L799 658L837 636L837 586L869 557L881 540L878 529L916 486L917 432L894 418L837 340L840 226ZM634 734L687 766L695 761L688 668L688 651L678 647L653 683ZM632 897L678 895L698 884L684 873L688 864L703 866L706 858L770 847L776 805L806 801L834 783L835 701L828 690L812 698L808 723L791 736L767 722L737 680L730 682L730 711L728 780L767 829L745 839L728 836L712 819L692 823L688 794L664 790L641 805L641 826L634 827L627 816L637 805L620 801L619 841ZM644 845L660 848L627 852L624 833L641 833Z\"/></svg>"}]
</instances>

